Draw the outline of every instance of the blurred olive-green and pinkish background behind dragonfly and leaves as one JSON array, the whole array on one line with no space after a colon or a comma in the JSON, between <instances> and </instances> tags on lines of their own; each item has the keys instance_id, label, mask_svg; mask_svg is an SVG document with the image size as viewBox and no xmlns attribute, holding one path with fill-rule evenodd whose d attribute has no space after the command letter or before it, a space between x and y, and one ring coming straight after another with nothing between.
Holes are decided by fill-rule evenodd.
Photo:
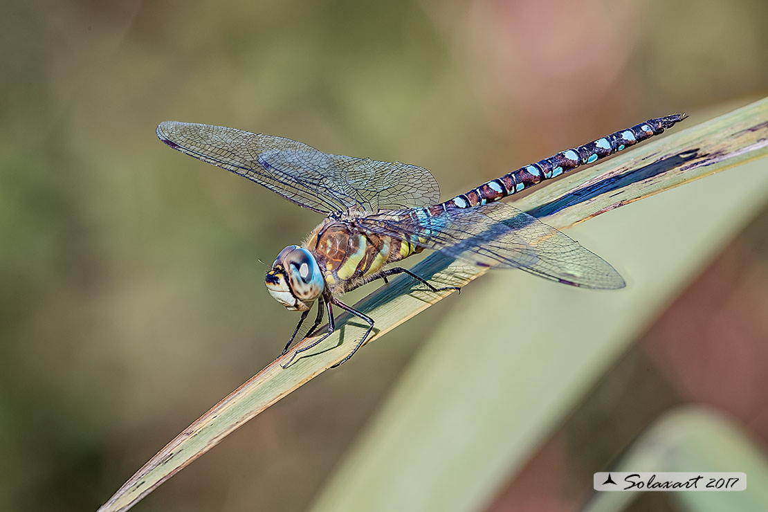
<instances>
[{"instance_id":1,"label":"blurred olive-green and pinkish background behind dragonfly and leaves","mask_svg":"<svg viewBox=\"0 0 768 512\"><path fill-rule=\"evenodd\" d=\"M759 0L12 0L3 12L0 510L95 510L295 325L263 274L319 217L164 147L160 121L419 164L447 198L648 117L702 120L768 90ZM566 470L607 464L674 404L716 406L768 441L766 226L763 211L659 306L604 377L614 385L584 398L488 510L574 510L587 490ZM303 510L433 325L480 296L468 291L135 510ZM622 386L635 400L618 411L605 390ZM595 424L614 438L584 444ZM560 475L562 494L531 484L538 474Z\"/></svg>"}]
</instances>

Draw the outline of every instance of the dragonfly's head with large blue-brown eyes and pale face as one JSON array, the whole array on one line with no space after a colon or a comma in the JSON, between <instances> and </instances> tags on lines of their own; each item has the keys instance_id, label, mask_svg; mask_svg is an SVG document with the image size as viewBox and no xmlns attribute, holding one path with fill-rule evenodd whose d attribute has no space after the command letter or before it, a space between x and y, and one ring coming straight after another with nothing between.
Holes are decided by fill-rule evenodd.
<instances>
[{"instance_id":1,"label":"dragonfly's head with large blue-brown eyes and pale face","mask_svg":"<svg viewBox=\"0 0 768 512\"><path fill-rule=\"evenodd\" d=\"M323 293L323 273L315 256L300 246L287 246L266 273L266 289L291 311L306 311Z\"/></svg>"}]
</instances>

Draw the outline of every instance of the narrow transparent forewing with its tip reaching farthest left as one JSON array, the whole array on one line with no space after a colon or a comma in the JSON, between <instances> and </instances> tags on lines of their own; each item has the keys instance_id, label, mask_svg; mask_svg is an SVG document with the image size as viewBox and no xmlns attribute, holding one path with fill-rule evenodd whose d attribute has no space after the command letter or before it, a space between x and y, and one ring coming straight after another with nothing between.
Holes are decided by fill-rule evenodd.
<instances>
[{"instance_id":1,"label":"narrow transparent forewing with its tip reaching farthest left","mask_svg":"<svg viewBox=\"0 0 768 512\"><path fill-rule=\"evenodd\" d=\"M327 215L356 204L353 197L333 182L333 175L323 173L323 165L333 165L328 156L296 140L178 121L159 124L157 137L175 150L246 177L310 210ZM261 155L275 151L303 154L304 160L316 162L318 168L265 166Z\"/></svg>"}]
</instances>

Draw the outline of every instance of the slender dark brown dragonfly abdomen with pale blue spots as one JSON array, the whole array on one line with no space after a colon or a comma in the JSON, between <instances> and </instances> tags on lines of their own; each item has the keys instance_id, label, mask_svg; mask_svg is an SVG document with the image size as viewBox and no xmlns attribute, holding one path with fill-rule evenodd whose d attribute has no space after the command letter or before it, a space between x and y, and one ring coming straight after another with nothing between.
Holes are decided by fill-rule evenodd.
<instances>
[{"instance_id":1,"label":"slender dark brown dragonfly abdomen with pale blue spots","mask_svg":"<svg viewBox=\"0 0 768 512\"><path fill-rule=\"evenodd\" d=\"M624 148L634 146L638 142L662 133L684 118L685 114L673 114L649 119L625 130L618 130L606 137L601 137L570 150L561 151L549 158L539 160L535 164L528 164L500 178L483 183L479 187L462 193L452 200L445 201L439 206L441 208L443 205L446 208L468 208L498 201L528 187L533 187L544 180L558 177L576 167L593 164Z\"/></svg>"}]
</instances>

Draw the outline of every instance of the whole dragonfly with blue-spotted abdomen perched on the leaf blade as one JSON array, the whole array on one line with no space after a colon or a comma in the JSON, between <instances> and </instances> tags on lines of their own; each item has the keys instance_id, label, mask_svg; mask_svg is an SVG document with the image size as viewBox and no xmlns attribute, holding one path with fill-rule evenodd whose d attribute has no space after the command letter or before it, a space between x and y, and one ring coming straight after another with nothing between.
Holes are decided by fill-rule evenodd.
<instances>
[{"instance_id":1,"label":"whole dragonfly with blue-spotted abdomen perched on the leaf blade","mask_svg":"<svg viewBox=\"0 0 768 512\"><path fill-rule=\"evenodd\" d=\"M323 153L302 142L208 124L164 121L157 137L168 146L272 190L286 200L325 216L301 245L280 251L266 273L266 289L301 318L282 355L290 350L311 309L317 313L303 336L313 335L323 312L326 332L297 355L323 342L336 329L333 306L368 325L361 339L335 366L366 342L374 321L339 299L367 282L405 273L432 292L438 288L401 266L425 249L474 266L521 269L571 286L618 289L624 279L604 259L564 233L499 200L592 164L661 134L685 114L649 119L624 130L561 151L440 202L429 170L412 164Z\"/></svg>"}]
</instances>

